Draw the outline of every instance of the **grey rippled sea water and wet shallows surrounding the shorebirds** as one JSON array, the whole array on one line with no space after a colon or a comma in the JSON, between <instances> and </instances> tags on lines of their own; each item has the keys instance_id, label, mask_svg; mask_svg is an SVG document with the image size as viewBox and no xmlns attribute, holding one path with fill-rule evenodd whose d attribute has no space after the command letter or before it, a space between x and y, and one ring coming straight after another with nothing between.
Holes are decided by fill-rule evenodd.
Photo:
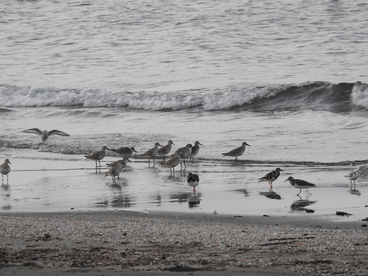
<instances>
[{"instance_id":1,"label":"grey rippled sea water and wet shallows surrounding the shorebirds","mask_svg":"<svg viewBox=\"0 0 368 276\"><path fill-rule=\"evenodd\" d=\"M365 1L2 1L1 212L367 217ZM22 130L57 129L47 144ZM139 154L201 142L175 173ZM223 157L243 141L244 155ZM134 146L113 183L107 151ZM184 164L183 164L184 165ZM258 178L280 167L273 183ZM344 176L360 169L354 189ZM188 172L200 184L194 197ZM314 183L299 192L289 176ZM6 177L5 177L6 178ZM336 217L336 219L339 219Z\"/></svg>"}]
</instances>

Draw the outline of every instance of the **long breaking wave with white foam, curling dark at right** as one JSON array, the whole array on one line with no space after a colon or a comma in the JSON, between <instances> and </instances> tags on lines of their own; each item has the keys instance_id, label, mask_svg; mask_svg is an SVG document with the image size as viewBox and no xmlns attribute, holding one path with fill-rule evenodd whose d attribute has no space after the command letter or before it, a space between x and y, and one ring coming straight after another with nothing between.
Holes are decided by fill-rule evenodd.
<instances>
[{"instance_id":1,"label":"long breaking wave with white foam, curling dark at right","mask_svg":"<svg viewBox=\"0 0 368 276\"><path fill-rule=\"evenodd\" d=\"M2 106L128 107L142 110L269 109L277 107L368 108L368 85L361 82L227 86L185 91L109 91L0 85Z\"/></svg>"}]
</instances>

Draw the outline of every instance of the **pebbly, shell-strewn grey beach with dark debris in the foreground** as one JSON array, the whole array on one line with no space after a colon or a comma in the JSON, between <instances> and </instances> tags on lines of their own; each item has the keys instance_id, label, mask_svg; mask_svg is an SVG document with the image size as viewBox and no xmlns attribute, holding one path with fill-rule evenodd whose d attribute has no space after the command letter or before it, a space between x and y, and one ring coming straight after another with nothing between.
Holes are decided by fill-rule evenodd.
<instances>
[{"instance_id":1,"label":"pebbly, shell-strewn grey beach with dark debris in the foreground","mask_svg":"<svg viewBox=\"0 0 368 276\"><path fill-rule=\"evenodd\" d=\"M1 275L367 274L364 221L122 210L1 217Z\"/></svg>"}]
</instances>

